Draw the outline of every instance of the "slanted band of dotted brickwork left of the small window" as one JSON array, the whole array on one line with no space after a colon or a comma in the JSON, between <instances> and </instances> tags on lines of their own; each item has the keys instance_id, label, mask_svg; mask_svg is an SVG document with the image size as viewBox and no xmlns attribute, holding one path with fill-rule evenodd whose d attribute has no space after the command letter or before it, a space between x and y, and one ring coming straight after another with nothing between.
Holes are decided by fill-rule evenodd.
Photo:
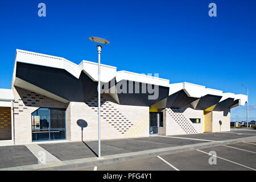
<instances>
[{"instance_id":1,"label":"slanted band of dotted brickwork left of the small window","mask_svg":"<svg viewBox=\"0 0 256 182\"><path fill-rule=\"evenodd\" d=\"M186 134L198 133L193 127L192 122L187 119L183 112L179 109L167 108L167 113L174 119L174 121L181 127Z\"/></svg>"}]
</instances>

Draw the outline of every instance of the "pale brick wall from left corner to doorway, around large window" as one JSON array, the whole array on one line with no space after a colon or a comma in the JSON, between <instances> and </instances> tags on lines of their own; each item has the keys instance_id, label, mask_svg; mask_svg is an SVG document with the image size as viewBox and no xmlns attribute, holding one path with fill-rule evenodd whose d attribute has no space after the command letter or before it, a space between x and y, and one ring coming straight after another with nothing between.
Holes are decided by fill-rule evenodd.
<instances>
[{"instance_id":1,"label":"pale brick wall from left corner to doorway, around large window","mask_svg":"<svg viewBox=\"0 0 256 182\"><path fill-rule=\"evenodd\" d=\"M98 139L97 97L85 102L62 102L14 88L14 137L15 144L32 142L31 114L40 107L66 109L66 139L80 141L83 119L88 126L83 129L83 140ZM149 136L149 108L119 105L108 95L101 98L101 138L118 139Z\"/></svg>"}]
</instances>

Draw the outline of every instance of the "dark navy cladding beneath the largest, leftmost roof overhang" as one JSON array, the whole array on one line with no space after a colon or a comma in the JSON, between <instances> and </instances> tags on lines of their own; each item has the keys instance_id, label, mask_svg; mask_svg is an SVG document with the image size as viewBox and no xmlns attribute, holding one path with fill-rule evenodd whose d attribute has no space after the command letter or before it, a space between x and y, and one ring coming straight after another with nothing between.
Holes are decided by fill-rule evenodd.
<instances>
[{"instance_id":1,"label":"dark navy cladding beneath the largest, leftmost roof overhang","mask_svg":"<svg viewBox=\"0 0 256 182\"><path fill-rule=\"evenodd\" d=\"M97 82L90 79L84 72L81 72L77 79L65 69L18 62L16 78L19 79L15 80L15 86L32 91L28 84L20 84L22 80L46 90L47 96L51 93L67 101L85 102L97 96Z\"/></svg>"}]
</instances>

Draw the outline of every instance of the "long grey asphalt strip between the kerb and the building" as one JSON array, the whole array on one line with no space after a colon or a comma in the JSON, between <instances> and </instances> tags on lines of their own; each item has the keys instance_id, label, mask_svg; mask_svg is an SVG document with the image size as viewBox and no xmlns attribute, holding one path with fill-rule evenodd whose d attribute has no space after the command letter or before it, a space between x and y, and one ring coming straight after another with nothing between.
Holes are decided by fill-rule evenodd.
<instances>
[{"instance_id":1,"label":"long grey asphalt strip between the kerb and the building","mask_svg":"<svg viewBox=\"0 0 256 182\"><path fill-rule=\"evenodd\" d=\"M240 132L240 131L239 131ZM228 133L204 133L191 135L158 136L133 139L115 139L101 141L102 156L123 154L127 152L137 152L153 150L157 148L184 146L188 144L205 143L210 141L220 141L234 138L244 138L255 136L254 130L247 133L238 131ZM97 156L97 141L90 142L68 142L39 144L59 160L73 160L90 158Z\"/></svg>"}]
</instances>

